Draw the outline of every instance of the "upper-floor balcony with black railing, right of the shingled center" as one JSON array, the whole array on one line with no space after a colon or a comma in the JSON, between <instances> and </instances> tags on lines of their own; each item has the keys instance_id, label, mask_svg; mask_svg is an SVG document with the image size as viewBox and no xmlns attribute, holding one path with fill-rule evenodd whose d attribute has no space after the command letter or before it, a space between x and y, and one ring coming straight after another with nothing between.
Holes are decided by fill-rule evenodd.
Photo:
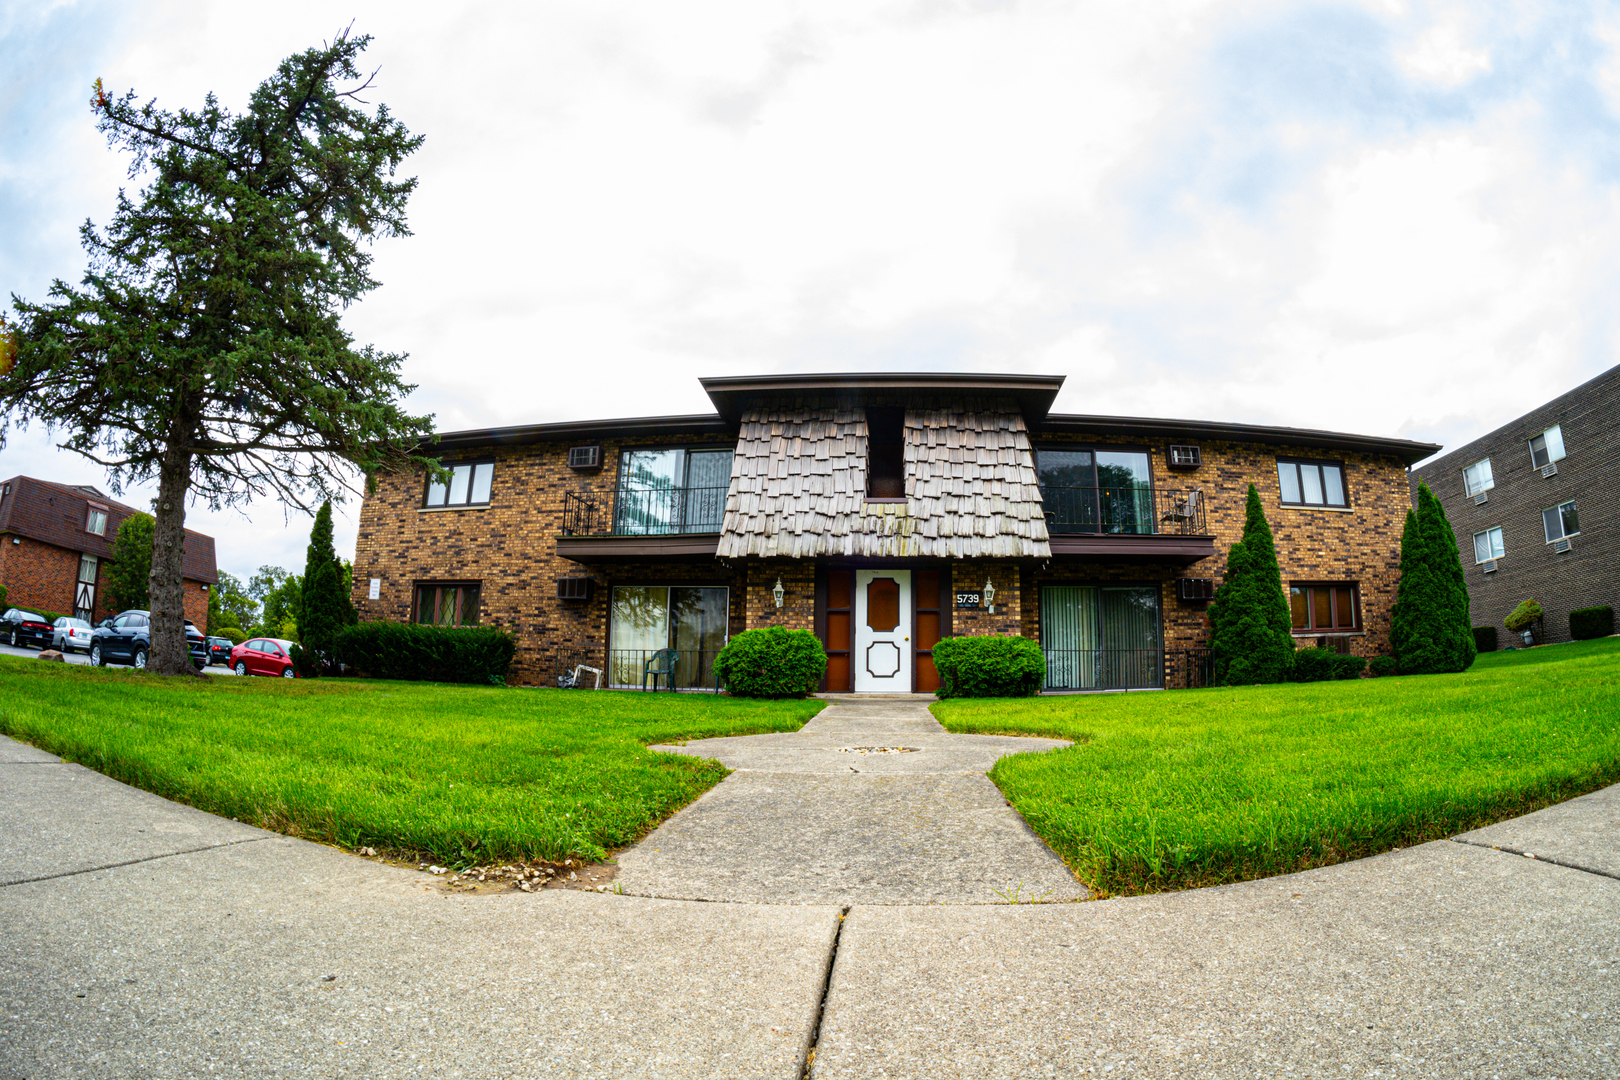
<instances>
[{"instance_id":1,"label":"upper-floor balcony with black railing, right of the shingled center","mask_svg":"<svg viewBox=\"0 0 1620 1080\"><path fill-rule=\"evenodd\" d=\"M1192 563L1215 554L1197 487L1042 486L1053 555Z\"/></svg>"}]
</instances>

